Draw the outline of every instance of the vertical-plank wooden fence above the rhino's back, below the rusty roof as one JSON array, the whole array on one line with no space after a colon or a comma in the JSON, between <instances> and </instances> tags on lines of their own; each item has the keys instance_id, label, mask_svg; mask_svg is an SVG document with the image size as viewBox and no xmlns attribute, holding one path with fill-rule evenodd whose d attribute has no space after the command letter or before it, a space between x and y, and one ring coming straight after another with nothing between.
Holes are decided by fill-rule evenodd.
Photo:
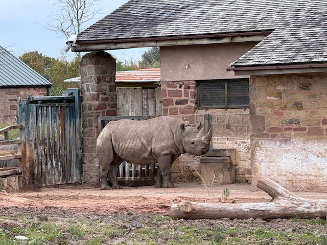
<instances>
[{"instance_id":1,"label":"vertical-plank wooden fence above the rhino's back, below the rusty roof","mask_svg":"<svg viewBox=\"0 0 327 245\"><path fill-rule=\"evenodd\" d=\"M161 88L120 88L118 116L162 115Z\"/></svg>"}]
</instances>

